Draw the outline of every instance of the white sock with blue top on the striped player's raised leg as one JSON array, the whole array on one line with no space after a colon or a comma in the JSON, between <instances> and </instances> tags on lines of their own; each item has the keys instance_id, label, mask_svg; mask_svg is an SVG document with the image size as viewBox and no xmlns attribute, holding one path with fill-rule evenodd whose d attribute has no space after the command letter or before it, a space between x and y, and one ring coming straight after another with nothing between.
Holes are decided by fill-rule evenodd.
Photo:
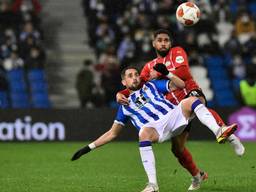
<instances>
[{"instance_id":1,"label":"white sock with blue top on the striped player's raised leg","mask_svg":"<svg viewBox=\"0 0 256 192\"><path fill-rule=\"evenodd\" d=\"M194 101L194 103L192 103L191 108L192 111L195 112L199 121L207 126L215 135L217 135L220 126L217 124L216 120L213 118L213 115L205 107L205 105L202 104L199 99L197 99Z\"/></svg>"}]
</instances>

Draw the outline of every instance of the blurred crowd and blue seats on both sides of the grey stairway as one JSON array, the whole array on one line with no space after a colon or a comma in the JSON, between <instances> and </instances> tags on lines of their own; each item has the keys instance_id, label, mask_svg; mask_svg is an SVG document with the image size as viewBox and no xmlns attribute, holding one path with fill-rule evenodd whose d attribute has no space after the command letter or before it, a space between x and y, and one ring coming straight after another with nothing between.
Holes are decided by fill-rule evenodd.
<instances>
[{"instance_id":1,"label":"blurred crowd and blue seats on both sides of the grey stairway","mask_svg":"<svg viewBox=\"0 0 256 192\"><path fill-rule=\"evenodd\" d=\"M191 72L209 105L238 106L244 102L241 80L256 86L253 0L198 0L201 19L192 27L176 22L175 11L183 1L81 2L88 43L97 58L86 60L77 76L81 107L116 106L115 94L122 88L120 70L130 64L141 67L155 57L151 34L159 28L171 32L173 46L186 50ZM51 106L45 78L41 8L39 0L0 1L0 108Z\"/></svg>"}]
</instances>

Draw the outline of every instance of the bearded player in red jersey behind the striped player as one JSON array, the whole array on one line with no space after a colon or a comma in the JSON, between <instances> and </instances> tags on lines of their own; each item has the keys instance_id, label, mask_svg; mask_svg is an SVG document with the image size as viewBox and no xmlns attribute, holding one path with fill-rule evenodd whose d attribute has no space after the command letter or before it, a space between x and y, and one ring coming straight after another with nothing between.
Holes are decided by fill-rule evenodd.
<instances>
[{"instance_id":1,"label":"bearded player in red jersey behind the striped player","mask_svg":"<svg viewBox=\"0 0 256 192\"><path fill-rule=\"evenodd\" d=\"M185 88L176 89L166 94L166 98L174 104L178 104L182 99L189 96L197 96L203 103L206 103L206 98L199 88L197 83L194 81L189 65L186 52L181 47L171 48L170 34L166 30L157 30L153 35L153 47L156 50L157 58L148 62L141 71L141 79L146 82L154 78L172 78L172 75L180 77L185 82ZM158 63L162 63L166 66L169 73L167 77L154 70L154 66ZM120 91L117 94L117 101L119 103L128 103L127 96L129 92L127 90ZM219 125L224 125L223 120L220 116L212 109L209 109ZM192 155L189 150L185 147L185 143L188 138L190 125L185 131L176 139L172 140L172 152L177 157L179 163L187 169L193 176L192 184L189 190L196 190L200 188L202 180L207 177L205 172L201 172L197 168L193 161ZM230 144L234 147L237 155L242 156L244 154L244 147L240 140L235 136L231 135L228 138Z\"/></svg>"}]
</instances>

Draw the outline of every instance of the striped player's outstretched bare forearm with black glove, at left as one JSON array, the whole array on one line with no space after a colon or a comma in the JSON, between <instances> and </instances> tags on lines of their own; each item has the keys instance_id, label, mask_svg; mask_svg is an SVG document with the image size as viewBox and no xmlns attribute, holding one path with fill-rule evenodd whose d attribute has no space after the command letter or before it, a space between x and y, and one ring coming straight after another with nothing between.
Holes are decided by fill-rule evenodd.
<instances>
[{"instance_id":1,"label":"striped player's outstretched bare forearm with black glove, at left","mask_svg":"<svg viewBox=\"0 0 256 192\"><path fill-rule=\"evenodd\" d=\"M98 139L93 141L91 144L86 145L85 147L79 149L75 152L73 157L71 158L72 161L79 159L82 155L89 153L91 150L95 149L96 147L100 147L102 145L105 145L115 139L120 131L122 130L123 125L118 123L113 123L111 129L101 135Z\"/></svg>"}]
</instances>

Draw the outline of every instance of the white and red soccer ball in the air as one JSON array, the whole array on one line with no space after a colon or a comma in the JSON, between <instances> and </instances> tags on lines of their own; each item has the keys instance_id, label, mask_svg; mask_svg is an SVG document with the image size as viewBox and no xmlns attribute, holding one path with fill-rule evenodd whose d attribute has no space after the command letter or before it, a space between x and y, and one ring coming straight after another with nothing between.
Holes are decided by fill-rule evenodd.
<instances>
[{"instance_id":1,"label":"white and red soccer ball in the air","mask_svg":"<svg viewBox=\"0 0 256 192\"><path fill-rule=\"evenodd\" d=\"M182 3L176 10L176 18L185 26L194 25L200 19L200 9L192 2Z\"/></svg>"}]
</instances>

